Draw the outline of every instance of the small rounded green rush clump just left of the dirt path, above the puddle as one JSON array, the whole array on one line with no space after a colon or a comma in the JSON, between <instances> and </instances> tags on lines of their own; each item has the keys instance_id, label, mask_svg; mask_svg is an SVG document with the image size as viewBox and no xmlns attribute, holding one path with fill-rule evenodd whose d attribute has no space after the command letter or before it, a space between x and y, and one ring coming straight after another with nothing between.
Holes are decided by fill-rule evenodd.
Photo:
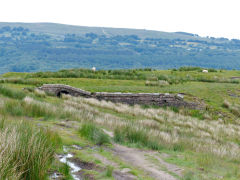
<instances>
[{"instance_id":1,"label":"small rounded green rush clump just left of the dirt path, above the puddle","mask_svg":"<svg viewBox=\"0 0 240 180\"><path fill-rule=\"evenodd\" d=\"M93 123L84 123L79 129L79 133L81 136L86 137L88 140L93 141L97 145L110 143L109 136Z\"/></svg>"}]
</instances>

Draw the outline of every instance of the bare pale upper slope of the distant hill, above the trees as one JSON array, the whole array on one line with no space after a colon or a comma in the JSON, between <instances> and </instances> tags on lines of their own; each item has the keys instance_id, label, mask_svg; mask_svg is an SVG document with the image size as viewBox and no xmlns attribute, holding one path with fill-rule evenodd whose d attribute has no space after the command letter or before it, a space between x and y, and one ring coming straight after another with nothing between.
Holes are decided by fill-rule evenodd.
<instances>
[{"instance_id":1,"label":"bare pale upper slope of the distant hill, above the trees","mask_svg":"<svg viewBox=\"0 0 240 180\"><path fill-rule=\"evenodd\" d=\"M56 23L7 23L0 22L0 28L4 26L24 27L36 33L49 33L53 35L77 34L85 35L92 32L98 35L137 35L140 38L166 38L166 39L203 39L200 37L193 37L184 33L168 33L162 31L151 31L146 29L127 29L127 28L106 28L106 27L87 27L87 26L73 26ZM205 38L206 39L206 38Z\"/></svg>"}]
</instances>

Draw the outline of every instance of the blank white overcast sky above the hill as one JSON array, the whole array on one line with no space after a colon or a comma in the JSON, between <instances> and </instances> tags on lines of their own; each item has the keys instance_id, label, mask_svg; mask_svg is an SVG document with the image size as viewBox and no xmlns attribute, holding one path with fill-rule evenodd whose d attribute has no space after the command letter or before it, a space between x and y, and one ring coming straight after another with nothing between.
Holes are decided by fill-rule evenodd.
<instances>
[{"instance_id":1,"label":"blank white overcast sky above the hill","mask_svg":"<svg viewBox=\"0 0 240 180\"><path fill-rule=\"evenodd\" d=\"M0 22L184 31L240 39L239 0L2 0Z\"/></svg>"}]
</instances>

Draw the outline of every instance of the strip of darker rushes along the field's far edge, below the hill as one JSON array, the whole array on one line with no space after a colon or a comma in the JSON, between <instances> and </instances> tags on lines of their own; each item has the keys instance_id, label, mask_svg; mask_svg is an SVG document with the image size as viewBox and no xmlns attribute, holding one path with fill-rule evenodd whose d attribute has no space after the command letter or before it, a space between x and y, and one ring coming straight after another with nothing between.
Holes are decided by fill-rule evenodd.
<instances>
[{"instance_id":1,"label":"strip of darker rushes along the field's far edge, below the hill","mask_svg":"<svg viewBox=\"0 0 240 180\"><path fill-rule=\"evenodd\" d=\"M232 76L236 76L237 72L229 71ZM239 83L237 79L231 79L231 73L209 69L209 73L202 73L199 67L182 67L179 71L174 70L152 70L152 69L128 69L128 70L98 70L90 69L69 69L60 70L58 72L38 72L29 73L26 78L33 78L38 81L39 78L88 78L88 79L116 79L116 80L164 80L169 84L179 84L190 81L210 82L210 83ZM226 76L226 74L228 74ZM150 83L156 84L156 83ZM146 83L149 85L149 83Z\"/></svg>"}]
</instances>

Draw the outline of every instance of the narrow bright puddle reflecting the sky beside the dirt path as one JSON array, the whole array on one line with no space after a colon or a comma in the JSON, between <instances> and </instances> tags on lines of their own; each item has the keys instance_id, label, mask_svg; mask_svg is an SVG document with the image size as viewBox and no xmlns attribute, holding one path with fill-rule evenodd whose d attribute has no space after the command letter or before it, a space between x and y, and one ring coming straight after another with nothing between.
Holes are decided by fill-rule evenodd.
<instances>
[{"instance_id":1,"label":"narrow bright puddle reflecting the sky beside the dirt path","mask_svg":"<svg viewBox=\"0 0 240 180\"><path fill-rule=\"evenodd\" d=\"M73 154L68 153L68 148L67 147L63 147L63 151L67 154L58 156L60 162L66 163L71 168L71 175L72 175L74 180L81 180L81 178L79 176L77 176L75 173L80 171L82 168L80 166L78 166L77 164L69 161L69 159L73 158L74 156L73 156Z\"/></svg>"}]
</instances>

